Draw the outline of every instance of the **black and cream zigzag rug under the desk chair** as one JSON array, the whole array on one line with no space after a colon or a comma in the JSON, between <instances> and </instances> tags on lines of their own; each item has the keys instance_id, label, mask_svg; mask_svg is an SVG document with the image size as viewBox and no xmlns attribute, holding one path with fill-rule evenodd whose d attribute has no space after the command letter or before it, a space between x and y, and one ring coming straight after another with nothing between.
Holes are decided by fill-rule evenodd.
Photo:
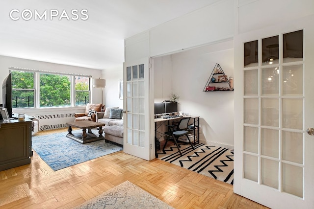
<instances>
[{"instance_id":1,"label":"black and cream zigzag rug under the desk chair","mask_svg":"<svg viewBox=\"0 0 314 209\"><path fill-rule=\"evenodd\" d=\"M158 151L158 159L234 184L233 150L203 143L196 144L194 150L187 144L181 144L180 147L183 156L175 145L171 145L165 148L165 152Z\"/></svg>"}]
</instances>

